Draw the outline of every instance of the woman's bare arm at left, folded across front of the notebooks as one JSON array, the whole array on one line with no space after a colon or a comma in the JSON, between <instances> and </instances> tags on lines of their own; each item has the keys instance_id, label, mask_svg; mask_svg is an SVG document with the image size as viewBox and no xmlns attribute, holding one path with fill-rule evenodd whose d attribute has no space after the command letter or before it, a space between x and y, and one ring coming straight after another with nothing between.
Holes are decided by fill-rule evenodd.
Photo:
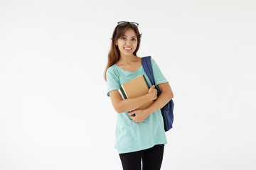
<instances>
[{"instance_id":1,"label":"woman's bare arm at left, folded across front of the notebooks","mask_svg":"<svg viewBox=\"0 0 256 170\"><path fill-rule=\"evenodd\" d=\"M127 111L134 111L135 109L142 106L144 103L148 101L155 100L157 98L157 91L154 89L154 86L151 86L149 89L149 93L144 96L140 96L137 98L127 98L122 100L119 92L117 90L110 91L110 98L114 110L117 113L123 113Z\"/></svg>"}]
</instances>

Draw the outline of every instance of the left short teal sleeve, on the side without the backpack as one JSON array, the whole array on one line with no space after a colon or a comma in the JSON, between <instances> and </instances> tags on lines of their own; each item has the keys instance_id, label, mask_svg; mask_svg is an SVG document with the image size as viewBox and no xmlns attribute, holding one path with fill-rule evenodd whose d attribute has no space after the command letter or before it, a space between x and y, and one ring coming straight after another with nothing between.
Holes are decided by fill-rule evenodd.
<instances>
[{"instance_id":1,"label":"left short teal sleeve, on the side without the backpack","mask_svg":"<svg viewBox=\"0 0 256 170\"><path fill-rule=\"evenodd\" d=\"M118 90L120 87L118 73L114 72L114 69L110 67L107 69L107 96L110 96L110 91Z\"/></svg>"}]
</instances>

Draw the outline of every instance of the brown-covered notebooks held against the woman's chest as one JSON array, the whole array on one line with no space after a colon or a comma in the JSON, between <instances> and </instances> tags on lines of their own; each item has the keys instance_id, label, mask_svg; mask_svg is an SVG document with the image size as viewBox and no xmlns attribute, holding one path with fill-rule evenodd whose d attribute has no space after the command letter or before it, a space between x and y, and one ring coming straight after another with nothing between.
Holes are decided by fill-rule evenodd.
<instances>
[{"instance_id":1,"label":"brown-covered notebooks held against the woman's chest","mask_svg":"<svg viewBox=\"0 0 256 170\"><path fill-rule=\"evenodd\" d=\"M144 77L144 74L142 74L122 84L121 87L118 89L118 91L122 99L124 100L126 98L137 98L139 96L144 96L145 94L149 93L149 88L150 86L146 82L146 78ZM142 106L140 106L137 109L148 108L153 102L154 101L149 101L147 103L144 103Z\"/></svg>"}]
</instances>

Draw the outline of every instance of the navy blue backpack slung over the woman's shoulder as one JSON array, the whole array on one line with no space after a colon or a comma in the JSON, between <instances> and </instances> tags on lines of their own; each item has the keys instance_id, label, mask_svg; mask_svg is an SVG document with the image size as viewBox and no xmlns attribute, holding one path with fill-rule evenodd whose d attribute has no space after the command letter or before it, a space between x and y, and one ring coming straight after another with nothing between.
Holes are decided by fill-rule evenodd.
<instances>
[{"instance_id":1,"label":"navy blue backpack slung over the woman's shoulder","mask_svg":"<svg viewBox=\"0 0 256 170\"><path fill-rule=\"evenodd\" d=\"M142 57L142 67L146 72L147 77L152 85L156 85L154 82L153 69L151 65L151 56ZM157 89L157 88L156 88ZM157 96L161 94L161 90L157 89ZM166 104L163 108L161 108L161 114L163 115L164 120L164 130L167 132L172 128L172 124L174 122L174 101L171 99L169 103Z\"/></svg>"}]
</instances>

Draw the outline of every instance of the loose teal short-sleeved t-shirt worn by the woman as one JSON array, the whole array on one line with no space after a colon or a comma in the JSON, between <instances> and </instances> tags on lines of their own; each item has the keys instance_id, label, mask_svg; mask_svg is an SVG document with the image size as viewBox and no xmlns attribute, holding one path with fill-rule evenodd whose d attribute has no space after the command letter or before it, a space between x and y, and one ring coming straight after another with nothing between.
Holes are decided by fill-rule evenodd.
<instances>
[{"instance_id":1,"label":"loose teal short-sleeved t-shirt worn by the woman","mask_svg":"<svg viewBox=\"0 0 256 170\"><path fill-rule=\"evenodd\" d=\"M156 62L151 58L155 84L168 82L161 73ZM118 90L121 84L144 74L146 81L151 86L149 77L146 76L143 67L135 72L127 72L116 64L107 69L107 96L110 91ZM151 113L142 123L134 123L129 117L129 112L117 113L117 125L115 131L115 145L119 154L136 152L149 149L154 145L166 144L164 122L161 111Z\"/></svg>"}]
</instances>

